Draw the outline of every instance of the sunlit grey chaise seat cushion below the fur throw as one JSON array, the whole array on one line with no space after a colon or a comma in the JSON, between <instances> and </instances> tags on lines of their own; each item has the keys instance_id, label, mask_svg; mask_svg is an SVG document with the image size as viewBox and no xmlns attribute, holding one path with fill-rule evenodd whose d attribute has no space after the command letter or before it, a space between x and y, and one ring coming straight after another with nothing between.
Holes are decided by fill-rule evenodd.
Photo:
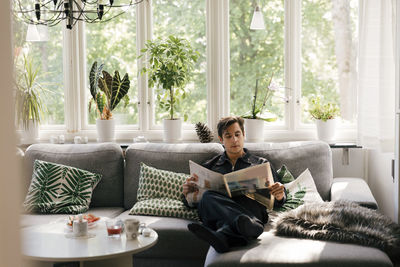
<instances>
[{"instance_id":1,"label":"sunlit grey chaise seat cushion below the fur throw","mask_svg":"<svg viewBox=\"0 0 400 267\"><path fill-rule=\"evenodd\" d=\"M210 248L208 267L234 266L340 266L389 267L389 257L379 249L351 244L278 237L264 232L248 246L219 254Z\"/></svg>"}]
</instances>

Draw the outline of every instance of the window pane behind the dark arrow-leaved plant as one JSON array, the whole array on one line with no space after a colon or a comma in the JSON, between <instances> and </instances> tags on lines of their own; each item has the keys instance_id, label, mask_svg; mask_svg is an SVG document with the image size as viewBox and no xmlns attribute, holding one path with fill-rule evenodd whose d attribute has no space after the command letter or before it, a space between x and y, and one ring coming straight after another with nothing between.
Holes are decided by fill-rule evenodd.
<instances>
[{"instance_id":1,"label":"window pane behind the dark arrow-leaved plant","mask_svg":"<svg viewBox=\"0 0 400 267\"><path fill-rule=\"evenodd\" d=\"M130 102L127 107L124 107L124 102L121 100L112 114L117 124L138 124L135 8L130 8L123 15L106 23L87 24L85 34L86 79L95 61L98 64L104 63L103 69L111 75L118 70L121 79L125 73L128 73ZM89 84L89 81L86 84ZM85 90L87 101L89 101L92 96L88 88ZM88 123L95 124L97 117L95 108L91 108Z\"/></svg>"}]
</instances>

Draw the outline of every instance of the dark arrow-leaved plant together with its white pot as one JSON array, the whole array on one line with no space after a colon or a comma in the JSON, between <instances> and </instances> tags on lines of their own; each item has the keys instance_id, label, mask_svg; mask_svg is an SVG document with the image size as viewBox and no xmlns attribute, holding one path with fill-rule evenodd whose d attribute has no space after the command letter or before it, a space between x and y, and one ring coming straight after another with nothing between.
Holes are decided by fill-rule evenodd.
<instances>
[{"instance_id":1,"label":"dark arrow-leaved plant together with its white pot","mask_svg":"<svg viewBox=\"0 0 400 267\"><path fill-rule=\"evenodd\" d=\"M115 121L112 118L112 111L123 100L125 107L129 103L128 91L130 80L128 73L121 79L118 70L111 76L103 70L104 64L97 66L95 61L90 69L89 83L92 99L89 102L89 111L94 103L98 118L96 129L99 142L115 141Z\"/></svg>"}]
</instances>

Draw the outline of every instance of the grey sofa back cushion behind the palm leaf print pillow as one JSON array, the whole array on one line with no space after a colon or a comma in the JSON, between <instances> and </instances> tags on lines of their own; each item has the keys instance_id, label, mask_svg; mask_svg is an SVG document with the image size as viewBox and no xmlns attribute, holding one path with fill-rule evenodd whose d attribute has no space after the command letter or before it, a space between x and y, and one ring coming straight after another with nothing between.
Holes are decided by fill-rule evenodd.
<instances>
[{"instance_id":1,"label":"grey sofa back cushion behind the palm leaf print pillow","mask_svg":"<svg viewBox=\"0 0 400 267\"><path fill-rule=\"evenodd\" d=\"M27 192L36 159L64 164L102 175L93 191L90 207L122 207L124 199L124 158L115 143L34 144L24 157L24 186Z\"/></svg>"}]
</instances>

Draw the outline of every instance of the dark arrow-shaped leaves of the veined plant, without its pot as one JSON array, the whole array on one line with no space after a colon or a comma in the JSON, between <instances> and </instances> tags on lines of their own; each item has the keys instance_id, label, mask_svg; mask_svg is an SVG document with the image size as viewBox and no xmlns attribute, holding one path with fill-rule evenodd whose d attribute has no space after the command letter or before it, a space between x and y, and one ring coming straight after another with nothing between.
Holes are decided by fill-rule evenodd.
<instances>
[{"instance_id":1,"label":"dark arrow-shaped leaves of the veined plant, without its pot","mask_svg":"<svg viewBox=\"0 0 400 267\"><path fill-rule=\"evenodd\" d=\"M89 86L92 99L89 103L89 111L94 103L100 119L109 120L112 118L111 112L121 100L125 102L125 107L129 104L130 80L128 73L125 73L121 80L117 70L114 76L111 76L103 70L103 66L104 64L97 66L97 61L95 61L90 69Z\"/></svg>"}]
</instances>

